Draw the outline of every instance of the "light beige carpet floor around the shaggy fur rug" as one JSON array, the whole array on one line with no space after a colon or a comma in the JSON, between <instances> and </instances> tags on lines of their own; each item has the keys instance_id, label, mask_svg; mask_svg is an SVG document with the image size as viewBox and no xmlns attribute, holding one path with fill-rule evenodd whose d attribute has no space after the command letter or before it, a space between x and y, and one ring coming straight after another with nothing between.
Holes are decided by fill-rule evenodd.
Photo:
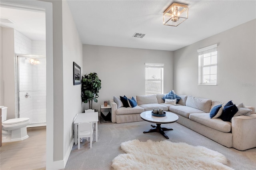
<instances>
[{"instance_id":1,"label":"light beige carpet floor around the shaggy fur rug","mask_svg":"<svg viewBox=\"0 0 256 170\"><path fill-rule=\"evenodd\" d=\"M125 153L120 148L122 142L134 139L142 142L167 140L158 132L144 134L143 131L152 128L151 124L146 121L122 124L98 123L98 142L92 142L92 148L90 142L82 142L80 150L74 145L65 169L112 170L112 160L119 154ZM226 148L178 123L164 124L162 127L174 129L165 131L170 138L168 141L204 146L223 154L228 159L227 166L235 170L255 170L256 148L245 151Z\"/></svg>"}]
</instances>

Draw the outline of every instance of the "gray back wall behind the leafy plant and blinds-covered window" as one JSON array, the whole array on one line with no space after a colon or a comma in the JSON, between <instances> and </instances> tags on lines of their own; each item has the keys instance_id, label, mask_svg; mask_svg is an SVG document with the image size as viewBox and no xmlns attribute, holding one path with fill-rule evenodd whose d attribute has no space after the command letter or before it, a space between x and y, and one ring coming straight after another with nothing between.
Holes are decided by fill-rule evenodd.
<instances>
[{"instance_id":1,"label":"gray back wall behind the leafy plant and blinds-covered window","mask_svg":"<svg viewBox=\"0 0 256 170\"><path fill-rule=\"evenodd\" d=\"M173 89L173 52L100 45L83 45L83 74L96 72L102 80L98 103L113 96L145 95L145 63L164 63L164 93ZM88 104L84 104L88 109Z\"/></svg>"}]
</instances>

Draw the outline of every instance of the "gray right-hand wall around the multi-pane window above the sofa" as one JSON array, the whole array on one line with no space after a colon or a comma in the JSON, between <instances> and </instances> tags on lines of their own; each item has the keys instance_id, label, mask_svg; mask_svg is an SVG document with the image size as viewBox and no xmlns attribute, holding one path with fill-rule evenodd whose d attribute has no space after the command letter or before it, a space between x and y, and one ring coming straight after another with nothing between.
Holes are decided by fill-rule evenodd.
<instances>
[{"instance_id":1,"label":"gray right-hand wall around the multi-pane window above the sofa","mask_svg":"<svg viewBox=\"0 0 256 170\"><path fill-rule=\"evenodd\" d=\"M179 94L256 106L256 20L174 51ZM197 49L218 44L217 85L198 85Z\"/></svg>"}]
</instances>

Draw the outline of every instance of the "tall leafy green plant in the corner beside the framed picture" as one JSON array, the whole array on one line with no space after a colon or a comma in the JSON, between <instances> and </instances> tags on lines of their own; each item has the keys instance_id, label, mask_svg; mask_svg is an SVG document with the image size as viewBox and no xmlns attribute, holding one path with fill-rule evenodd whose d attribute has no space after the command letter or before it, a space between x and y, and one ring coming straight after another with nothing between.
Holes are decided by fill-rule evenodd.
<instances>
[{"instance_id":1,"label":"tall leafy green plant in the corner beside the framed picture","mask_svg":"<svg viewBox=\"0 0 256 170\"><path fill-rule=\"evenodd\" d=\"M101 80L97 73L90 73L82 76L81 97L82 102L89 102L89 109L92 109L92 100L98 102L98 92L101 89Z\"/></svg>"}]
</instances>

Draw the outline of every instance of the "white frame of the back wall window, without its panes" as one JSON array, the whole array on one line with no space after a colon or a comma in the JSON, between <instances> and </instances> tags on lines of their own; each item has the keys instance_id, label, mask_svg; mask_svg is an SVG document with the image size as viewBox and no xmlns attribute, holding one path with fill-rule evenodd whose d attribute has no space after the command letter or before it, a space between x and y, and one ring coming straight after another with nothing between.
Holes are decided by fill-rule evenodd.
<instances>
[{"instance_id":1,"label":"white frame of the back wall window, without its panes","mask_svg":"<svg viewBox=\"0 0 256 170\"><path fill-rule=\"evenodd\" d=\"M146 79L146 69L147 68L158 68L160 69L160 83L161 83L161 92L160 93L154 93L154 94L162 94L164 91L164 64L163 63L145 63L145 95L153 95L153 94L147 94L146 93L146 81L158 81L155 79Z\"/></svg>"}]
</instances>

